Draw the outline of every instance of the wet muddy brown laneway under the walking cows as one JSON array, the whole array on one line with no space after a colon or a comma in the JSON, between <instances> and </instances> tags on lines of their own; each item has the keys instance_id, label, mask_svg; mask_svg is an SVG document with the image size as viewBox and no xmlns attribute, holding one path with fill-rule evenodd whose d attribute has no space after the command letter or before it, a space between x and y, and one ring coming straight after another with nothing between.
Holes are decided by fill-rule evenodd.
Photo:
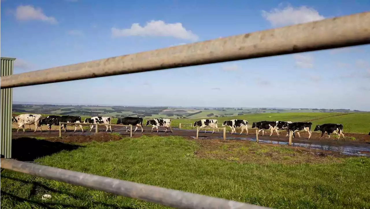
<instances>
[{"instance_id":1,"label":"wet muddy brown laneway under the walking cows","mask_svg":"<svg viewBox=\"0 0 370 209\"><path fill-rule=\"evenodd\" d=\"M135 130L135 128L133 129ZM155 129L154 129L155 130ZM185 129L176 129L172 128L174 131L173 135L176 136L184 136L189 138L195 138L196 136L196 130L185 130ZM129 131L126 132L126 128L112 126L112 133L120 133L124 136L129 136ZM240 131L237 129L237 132ZM99 133L105 133L105 127L101 126L99 128ZM108 130L108 133L110 131ZM239 132L240 133L240 132ZM33 130L26 130L25 133L23 133L23 130L20 130L19 133L16 133L16 131L13 131L13 138L20 138L20 137L57 137L59 135L59 132L57 130L52 130L51 132L47 130L43 130L42 133L40 133L40 130L36 131L34 133ZM84 131L84 133L81 132L81 130L78 129L76 132L73 132L72 127L67 127L67 132L64 133L64 130L62 130L62 137L68 136L69 140L71 140L71 137L73 135L81 136L81 135L92 135L95 134L95 128L90 131ZM144 127L144 132L141 133L141 129L138 129L136 132L132 132L133 137L139 137L144 135L160 135L160 136L171 136L171 132L164 133L164 129L159 129L159 133L157 134L157 131L153 131L151 133L151 127ZM262 132L260 133L262 134ZM288 137L286 136L286 131L280 131L280 137L276 136L276 133L273 133L271 137L269 137L270 132L265 131L265 135L261 136L259 135L259 143L270 143L270 144L287 144ZM204 130L199 131L199 139L222 139L222 128L220 129L220 132L215 131L215 133L212 134L212 130L207 130L206 133L204 133ZM346 137L355 137L357 141L343 141L341 139L337 140L333 137L329 140L327 138L327 135L324 135L324 139L320 138L320 133L312 133L312 137L310 140L307 139L308 134L307 132L301 133L301 139L298 138L296 135L296 138L293 138L292 146L298 146L298 147L305 147L309 149L319 149L319 150L326 150L326 151L335 151L339 152L341 154L346 155L362 155L362 156L368 156L370 157L370 136L367 134L350 134L345 133ZM256 135L255 130L250 129L248 135L245 133L242 133L242 135L239 134L231 134L230 132L226 133L226 140L250 140L250 141L256 141Z\"/></svg>"}]
</instances>

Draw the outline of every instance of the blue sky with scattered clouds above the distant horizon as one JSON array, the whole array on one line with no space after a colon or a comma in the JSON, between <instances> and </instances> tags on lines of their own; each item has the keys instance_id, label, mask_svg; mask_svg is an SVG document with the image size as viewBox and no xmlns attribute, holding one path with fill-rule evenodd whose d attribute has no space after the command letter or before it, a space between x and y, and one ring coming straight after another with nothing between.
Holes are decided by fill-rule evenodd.
<instances>
[{"instance_id":1,"label":"blue sky with scattered clouds above the distant horizon","mask_svg":"<svg viewBox=\"0 0 370 209\"><path fill-rule=\"evenodd\" d=\"M369 11L370 1L0 0L0 9L0 56L22 73ZM13 100L370 110L369 55L363 45L26 86Z\"/></svg>"}]
</instances>

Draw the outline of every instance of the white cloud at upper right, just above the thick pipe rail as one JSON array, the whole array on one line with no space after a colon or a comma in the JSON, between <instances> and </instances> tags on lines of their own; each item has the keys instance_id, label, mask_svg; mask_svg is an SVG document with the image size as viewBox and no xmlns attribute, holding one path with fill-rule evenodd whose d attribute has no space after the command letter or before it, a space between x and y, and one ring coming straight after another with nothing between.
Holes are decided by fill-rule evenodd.
<instances>
[{"instance_id":1,"label":"white cloud at upper right, just above the thick pipe rail","mask_svg":"<svg viewBox=\"0 0 370 209\"><path fill-rule=\"evenodd\" d=\"M282 4L279 4L279 7L281 6ZM308 23L325 19L325 17L320 15L314 8L306 6L294 8L290 6L290 4L283 9L274 8L270 10L270 12L263 10L262 17L269 21L274 27Z\"/></svg>"}]
</instances>

